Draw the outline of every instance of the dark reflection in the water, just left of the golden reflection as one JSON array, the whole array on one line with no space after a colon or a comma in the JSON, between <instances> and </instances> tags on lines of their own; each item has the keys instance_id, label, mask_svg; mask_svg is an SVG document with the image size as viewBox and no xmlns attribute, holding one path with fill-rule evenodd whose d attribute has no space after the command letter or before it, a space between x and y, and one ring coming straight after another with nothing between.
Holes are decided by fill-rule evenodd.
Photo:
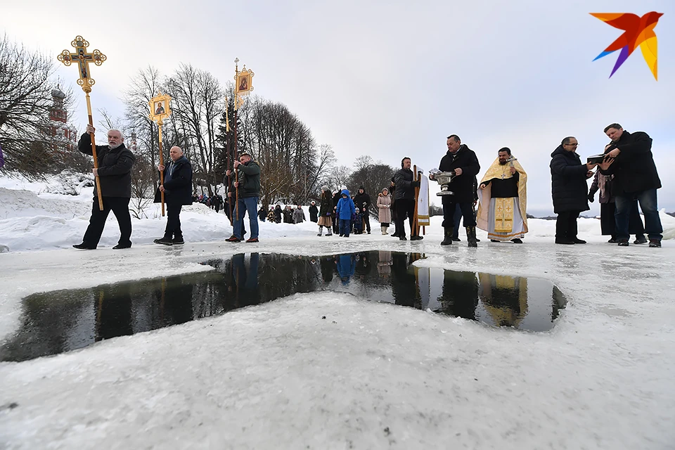
<instances>
[{"instance_id":1,"label":"dark reflection in the water, just left of the golden reflection","mask_svg":"<svg viewBox=\"0 0 675 450\"><path fill-rule=\"evenodd\" d=\"M444 314L476 320L478 306L476 274L446 270L443 275L443 293L438 300Z\"/></svg>"}]
</instances>

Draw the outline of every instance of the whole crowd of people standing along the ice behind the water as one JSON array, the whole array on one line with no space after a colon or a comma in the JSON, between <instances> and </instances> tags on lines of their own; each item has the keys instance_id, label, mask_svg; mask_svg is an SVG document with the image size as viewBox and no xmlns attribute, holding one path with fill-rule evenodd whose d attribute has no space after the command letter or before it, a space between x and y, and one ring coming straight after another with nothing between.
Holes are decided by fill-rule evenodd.
<instances>
[{"instance_id":1,"label":"whole crowd of people standing along the ice behind the water","mask_svg":"<svg viewBox=\"0 0 675 450\"><path fill-rule=\"evenodd\" d=\"M91 125L79 140L82 153L91 155L91 134L96 130ZM657 189L661 181L657 174L651 152L652 139L638 131L629 133L619 124L605 127L610 143L601 155L589 158L586 164L577 155L578 141L567 136L560 146L551 153L551 193L553 208L558 214L555 227L555 243L583 244L577 236L577 219L581 212L589 210L595 193L600 192L601 229L609 235L610 243L629 245L629 235L634 234L634 243L649 243L649 247L661 246L662 226L657 210ZM527 227L527 173L508 147L500 148L494 162L480 180L480 163L473 150L461 142L456 134L446 138L447 152L439 163L439 169L430 174L431 180L443 183L442 205L444 239L441 245L451 245L459 239L458 229L463 220L468 246L477 247L476 228L487 231L491 242L521 244ZM120 240L115 249L131 247L131 167L135 157L124 146L124 136L119 130L108 131L108 146L96 146L97 167L93 170L97 178L94 188L94 205L89 226L79 249L94 249L98 245L110 211L115 214L120 226ZM155 195L155 202L165 201L167 205L167 226L165 236L155 243L180 245L184 243L181 231L180 213L184 205L203 203L216 212L221 207L231 216L233 234L227 241L241 242L246 233L243 219L249 217L251 236L248 243L258 242L258 221L265 219L274 223L300 224L307 220L302 205L270 206L258 209L260 198L261 169L250 153L241 153L234 161L233 170L226 171L226 198L221 195L196 195L191 192L193 170L183 150L177 146L169 150L169 165L158 165L162 173L162 184ZM596 169L593 172L593 169ZM589 191L587 179L593 177ZM411 159L401 160L401 169L392 176L390 186L378 193L377 208L380 231L407 240L405 221L409 221L411 240L421 240L419 226L415 221L417 189L424 178L413 174ZM448 181L449 180L449 181ZM99 184L100 182L100 184ZM101 190L102 201L98 202ZM321 187L321 196L309 206L309 220L319 226L318 236L337 235L349 237L353 234L371 233L370 216L374 212L371 196L364 186L352 195L347 186L341 186L334 193L328 186ZM638 214L641 208L645 224ZM476 210L476 206L478 210ZM647 237L645 238L645 234Z\"/></svg>"}]
</instances>

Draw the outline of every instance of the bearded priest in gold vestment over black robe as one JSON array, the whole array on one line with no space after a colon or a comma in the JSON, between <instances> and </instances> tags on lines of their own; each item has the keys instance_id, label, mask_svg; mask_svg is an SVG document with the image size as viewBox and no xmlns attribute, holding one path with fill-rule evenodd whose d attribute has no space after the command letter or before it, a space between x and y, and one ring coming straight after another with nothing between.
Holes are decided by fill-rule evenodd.
<instances>
[{"instance_id":1,"label":"bearded priest in gold vestment over black robe","mask_svg":"<svg viewBox=\"0 0 675 450\"><path fill-rule=\"evenodd\" d=\"M477 228L492 242L522 244L527 233L527 174L508 147L487 169L478 186Z\"/></svg>"}]
</instances>

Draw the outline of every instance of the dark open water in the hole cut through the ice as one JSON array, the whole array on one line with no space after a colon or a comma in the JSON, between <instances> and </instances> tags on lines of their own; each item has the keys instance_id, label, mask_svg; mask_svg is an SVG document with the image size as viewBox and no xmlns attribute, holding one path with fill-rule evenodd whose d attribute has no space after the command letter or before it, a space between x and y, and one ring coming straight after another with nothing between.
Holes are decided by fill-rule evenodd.
<instances>
[{"instance_id":1,"label":"dark open water in the hole cut through the ice","mask_svg":"<svg viewBox=\"0 0 675 450\"><path fill-rule=\"evenodd\" d=\"M520 330L553 327L565 299L550 281L418 268L419 254L373 251L326 257L239 254L214 271L59 290L23 299L23 324L0 361L25 361L261 304L333 290Z\"/></svg>"}]
</instances>

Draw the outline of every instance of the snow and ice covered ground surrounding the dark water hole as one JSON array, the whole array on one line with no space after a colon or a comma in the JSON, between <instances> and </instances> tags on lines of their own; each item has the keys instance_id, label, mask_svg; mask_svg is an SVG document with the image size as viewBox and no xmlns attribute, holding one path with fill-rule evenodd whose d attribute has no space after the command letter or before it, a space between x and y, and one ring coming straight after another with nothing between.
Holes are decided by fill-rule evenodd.
<instances>
[{"instance_id":1,"label":"snow and ice covered ground surrounding the dark water hole","mask_svg":"<svg viewBox=\"0 0 675 450\"><path fill-rule=\"evenodd\" d=\"M420 266L551 279L568 303L553 330L525 333L304 294L0 363L0 447L674 448L673 240L619 248L598 220L580 219L589 244L555 245L555 222L532 219L523 245L480 233L469 249L461 233L460 245L442 248L435 217L418 242L377 226L345 239L265 222L260 243L231 244L226 217L195 205L181 214L182 248L151 244L165 219L150 212L134 220L131 249L110 249L111 219L99 250L84 252L65 249L86 228L88 188L18 193L11 183L0 178L0 244L10 250L0 255L0 339L17 330L26 295L210 270L200 262L236 252L423 252ZM23 217L30 208L18 198L30 199ZM675 219L662 220L674 237Z\"/></svg>"}]
</instances>

